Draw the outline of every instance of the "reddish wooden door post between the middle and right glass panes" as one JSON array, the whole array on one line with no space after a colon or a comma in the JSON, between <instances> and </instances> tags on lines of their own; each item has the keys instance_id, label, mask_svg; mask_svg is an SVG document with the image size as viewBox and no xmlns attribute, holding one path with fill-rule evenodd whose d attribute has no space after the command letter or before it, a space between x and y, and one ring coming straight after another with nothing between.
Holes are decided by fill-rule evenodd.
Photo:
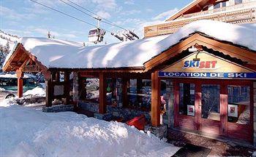
<instances>
[{"instance_id":1,"label":"reddish wooden door post between the middle and right glass panes","mask_svg":"<svg viewBox=\"0 0 256 157\"><path fill-rule=\"evenodd\" d=\"M220 134L227 135L227 85L220 86Z\"/></svg>"}]
</instances>

